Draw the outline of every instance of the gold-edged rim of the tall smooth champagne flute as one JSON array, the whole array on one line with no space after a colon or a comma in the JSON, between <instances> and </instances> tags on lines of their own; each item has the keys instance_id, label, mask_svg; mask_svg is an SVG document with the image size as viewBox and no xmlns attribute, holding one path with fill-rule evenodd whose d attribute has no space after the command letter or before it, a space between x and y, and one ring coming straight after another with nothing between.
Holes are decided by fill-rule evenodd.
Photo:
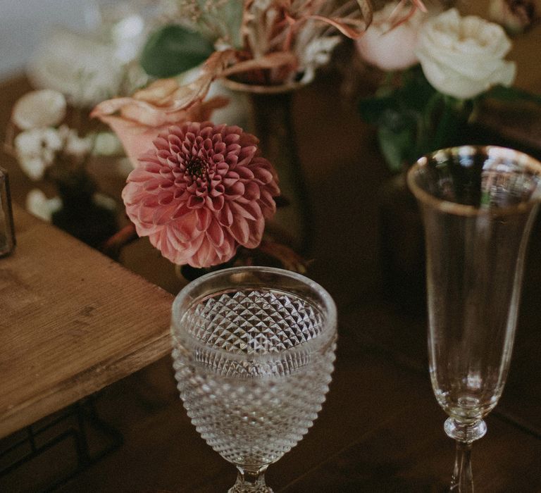
<instances>
[{"instance_id":1,"label":"gold-edged rim of the tall smooth champagne flute","mask_svg":"<svg viewBox=\"0 0 541 493\"><path fill-rule=\"evenodd\" d=\"M427 167L428 163L437 158L439 154L447 154L448 156L452 156L460 153L468 153L470 156L474 156L475 154L485 154L487 157L492 154L500 158L506 158L509 161L515 161L519 166L522 166L525 170L529 170L533 175L537 175L537 177L539 177L541 180L541 162L525 152L517 151L516 149L511 149L509 147L495 145L464 145L447 147L422 156L415 163L413 163L411 168L409 168L406 175L406 182L409 189L416 199L418 199L418 201L420 201L422 204L431 206L442 213L454 214L456 216L509 216L524 213L529 211L537 204L540 204L541 194L511 206L499 207L497 209L483 209L477 206L459 204L446 199L439 199L417 185L416 174L418 171Z\"/></svg>"}]
</instances>

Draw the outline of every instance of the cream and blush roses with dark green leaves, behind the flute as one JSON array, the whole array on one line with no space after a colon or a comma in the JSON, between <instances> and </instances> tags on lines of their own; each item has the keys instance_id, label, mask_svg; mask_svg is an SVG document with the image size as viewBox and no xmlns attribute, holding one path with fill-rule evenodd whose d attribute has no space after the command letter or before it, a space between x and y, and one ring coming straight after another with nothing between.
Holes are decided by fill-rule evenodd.
<instances>
[{"instance_id":1,"label":"cream and blush roses with dark green leaves, behind the flute","mask_svg":"<svg viewBox=\"0 0 541 493\"><path fill-rule=\"evenodd\" d=\"M375 13L357 44L368 63L387 72L373 97L360 101L361 117L378 126L380 149L392 170L445 146L465 144L463 132L487 99L540 102L514 87L516 67L506 61L504 29L456 8L412 15L394 30L388 11ZM373 30L379 34L376 40Z\"/></svg>"}]
</instances>

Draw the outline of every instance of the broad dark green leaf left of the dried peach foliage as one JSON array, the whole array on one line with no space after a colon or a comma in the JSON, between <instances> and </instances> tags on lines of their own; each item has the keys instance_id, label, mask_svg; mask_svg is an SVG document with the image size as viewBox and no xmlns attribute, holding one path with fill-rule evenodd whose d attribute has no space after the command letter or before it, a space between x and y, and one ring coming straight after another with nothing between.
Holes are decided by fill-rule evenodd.
<instances>
[{"instance_id":1,"label":"broad dark green leaf left of the dried peach foliage","mask_svg":"<svg viewBox=\"0 0 541 493\"><path fill-rule=\"evenodd\" d=\"M149 75L173 77L197 67L213 51L211 42L199 33L171 24L161 27L149 37L140 62Z\"/></svg>"}]
</instances>

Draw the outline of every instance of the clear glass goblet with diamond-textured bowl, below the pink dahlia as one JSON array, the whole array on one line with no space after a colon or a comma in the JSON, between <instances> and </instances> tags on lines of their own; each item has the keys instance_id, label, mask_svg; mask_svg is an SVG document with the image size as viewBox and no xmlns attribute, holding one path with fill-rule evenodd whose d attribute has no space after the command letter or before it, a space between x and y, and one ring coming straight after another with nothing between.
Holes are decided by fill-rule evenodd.
<instances>
[{"instance_id":1,"label":"clear glass goblet with diamond-textured bowl, below the pink dahlia","mask_svg":"<svg viewBox=\"0 0 541 493\"><path fill-rule=\"evenodd\" d=\"M173 366L188 416L237 466L230 493L270 493L270 463L308 432L328 392L336 308L287 270L218 270L173 302Z\"/></svg>"}]
</instances>

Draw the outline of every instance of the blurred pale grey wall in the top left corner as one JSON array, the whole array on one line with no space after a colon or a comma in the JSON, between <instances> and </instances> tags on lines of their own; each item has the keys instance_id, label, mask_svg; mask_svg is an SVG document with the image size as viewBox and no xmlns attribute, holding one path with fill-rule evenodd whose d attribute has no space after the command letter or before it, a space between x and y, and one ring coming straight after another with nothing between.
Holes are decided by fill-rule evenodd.
<instances>
[{"instance_id":1,"label":"blurred pale grey wall in the top left corner","mask_svg":"<svg viewBox=\"0 0 541 493\"><path fill-rule=\"evenodd\" d=\"M49 27L85 29L93 6L92 0L0 0L0 80L23 70Z\"/></svg>"}]
</instances>

